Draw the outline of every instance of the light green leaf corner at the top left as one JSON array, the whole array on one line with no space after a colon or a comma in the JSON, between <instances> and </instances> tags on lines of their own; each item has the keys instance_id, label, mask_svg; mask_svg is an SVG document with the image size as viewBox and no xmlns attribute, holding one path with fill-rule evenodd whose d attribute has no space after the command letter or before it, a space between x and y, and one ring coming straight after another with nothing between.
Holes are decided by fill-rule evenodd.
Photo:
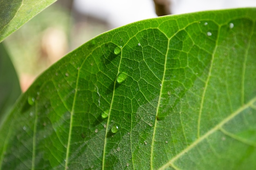
<instances>
[{"instance_id":1,"label":"light green leaf corner at the top left","mask_svg":"<svg viewBox=\"0 0 256 170\"><path fill-rule=\"evenodd\" d=\"M56 0L1 0L0 42Z\"/></svg>"}]
</instances>

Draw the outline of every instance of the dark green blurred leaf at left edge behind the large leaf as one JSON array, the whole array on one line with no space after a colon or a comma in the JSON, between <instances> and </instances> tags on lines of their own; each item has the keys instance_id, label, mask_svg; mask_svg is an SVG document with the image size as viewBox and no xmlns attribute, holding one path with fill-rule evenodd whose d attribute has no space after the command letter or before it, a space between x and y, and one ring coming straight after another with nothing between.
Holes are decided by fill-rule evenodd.
<instances>
[{"instance_id":1,"label":"dark green blurred leaf at left edge behind the large leaf","mask_svg":"<svg viewBox=\"0 0 256 170\"><path fill-rule=\"evenodd\" d=\"M20 96L20 83L9 55L0 43L0 126L4 116L10 112L11 106Z\"/></svg>"}]
</instances>

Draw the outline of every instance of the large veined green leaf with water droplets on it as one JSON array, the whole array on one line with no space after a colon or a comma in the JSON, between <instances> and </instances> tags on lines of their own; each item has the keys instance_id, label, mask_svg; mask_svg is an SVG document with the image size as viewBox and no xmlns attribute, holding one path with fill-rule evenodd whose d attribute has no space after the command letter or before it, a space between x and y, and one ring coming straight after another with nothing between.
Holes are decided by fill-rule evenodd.
<instances>
[{"instance_id":1,"label":"large veined green leaf with water droplets on it","mask_svg":"<svg viewBox=\"0 0 256 170\"><path fill-rule=\"evenodd\" d=\"M20 97L0 128L0 167L255 168L255 16L166 16L90 40Z\"/></svg>"}]
</instances>

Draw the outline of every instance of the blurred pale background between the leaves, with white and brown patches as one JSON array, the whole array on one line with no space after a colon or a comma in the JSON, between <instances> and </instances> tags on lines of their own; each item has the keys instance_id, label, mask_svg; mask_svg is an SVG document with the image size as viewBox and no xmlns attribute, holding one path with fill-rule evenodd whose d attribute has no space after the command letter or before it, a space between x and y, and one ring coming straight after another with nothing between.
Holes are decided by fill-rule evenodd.
<instances>
[{"instance_id":1,"label":"blurred pale background between the leaves, with white and brown patches","mask_svg":"<svg viewBox=\"0 0 256 170\"><path fill-rule=\"evenodd\" d=\"M110 29L162 15L237 7L256 7L256 0L58 0L4 45L26 91L54 62Z\"/></svg>"}]
</instances>

